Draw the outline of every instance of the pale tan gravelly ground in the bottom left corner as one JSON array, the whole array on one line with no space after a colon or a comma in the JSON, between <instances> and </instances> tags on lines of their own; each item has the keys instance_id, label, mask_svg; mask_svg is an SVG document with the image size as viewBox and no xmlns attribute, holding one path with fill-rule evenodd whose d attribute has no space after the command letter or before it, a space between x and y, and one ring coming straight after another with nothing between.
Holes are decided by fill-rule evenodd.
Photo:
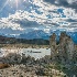
<instances>
[{"instance_id":1,"label":"pale tan gravelly ground in the bottom left corner","mask_svg":"<svg viewBox=\"0 0 77 77\"><path fill-rule=\"evenodd\" d=\"M0 69L0 77L37 77L33 72L21 69L20 66L11 66L9 68Z\"/></svg>"}]
</instances>

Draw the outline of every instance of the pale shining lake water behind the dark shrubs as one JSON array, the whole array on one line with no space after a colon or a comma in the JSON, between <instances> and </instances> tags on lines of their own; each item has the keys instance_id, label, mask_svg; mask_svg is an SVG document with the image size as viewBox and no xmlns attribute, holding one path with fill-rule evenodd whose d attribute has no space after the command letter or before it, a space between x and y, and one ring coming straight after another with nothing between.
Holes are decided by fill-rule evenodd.
<instances>
[{"instance_id":1,"label":"pale shining lake water behind the dark shrubs","mask_svg":"<svg viewBox=\"0 0 77 77\"><path fill-rule=\"evenodd\" d=\"M32 56L35 59L42 58L45 55L51 55L51 48L0 48L0 57L6 56L9 53L25 54L25 56Z\"/></svg>"}]
</instances>

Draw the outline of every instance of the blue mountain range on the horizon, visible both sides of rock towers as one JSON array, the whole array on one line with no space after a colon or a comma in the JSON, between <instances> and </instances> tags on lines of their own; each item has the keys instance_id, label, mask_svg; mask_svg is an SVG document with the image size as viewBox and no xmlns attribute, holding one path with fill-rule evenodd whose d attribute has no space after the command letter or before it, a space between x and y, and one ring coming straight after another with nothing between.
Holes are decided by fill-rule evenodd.
<instances>
[{"instance_id":1,"label":"blue mountain range on the horizon, visible both sides of rock towers","mask_svg":"<svg viewBox=\"0 0 77 77\"><path fill-rule=\"evenodd\" d=\"M42 30L34 30L34 31L31 31L29 33L22 33L18 36L10 36L8 35L7 37L15 37L15 38L24 38L24 40L36 40L36 38L41 38L41 40L50 40L50 36L55 33L56 36L57 36L57 41L59 40L59 35L61 35L61 32L59 30L57 31L50 31L50 33L45 33L44 31ZM67 35L69 35L74 43L77 44L77 32L66 32ZM4 35L4 34L3 34Z\"/></svg>"}]
</instances>

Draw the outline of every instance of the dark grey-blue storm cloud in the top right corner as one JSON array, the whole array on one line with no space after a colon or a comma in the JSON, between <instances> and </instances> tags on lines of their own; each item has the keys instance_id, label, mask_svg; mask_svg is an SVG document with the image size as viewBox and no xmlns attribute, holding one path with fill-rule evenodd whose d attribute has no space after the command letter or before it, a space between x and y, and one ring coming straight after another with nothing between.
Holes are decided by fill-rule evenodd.
<instances>
[{"instance_id":1,"label":"dark grey-blue storm cloud in the top right corner","mask_svg":"<svg viewBox=\"0 0 77 77\"><path fill-rule=\"evenodd\" d=\"M62 6L65 8L72 8L72 9L76 9L77 10L77 1L73 1L72 3L68 3L67 0L43 0L45 2L48 2L51 4L55 4L55 6ZM57 1L57 3L56 3Z\"/></svg>"}]
</instances>

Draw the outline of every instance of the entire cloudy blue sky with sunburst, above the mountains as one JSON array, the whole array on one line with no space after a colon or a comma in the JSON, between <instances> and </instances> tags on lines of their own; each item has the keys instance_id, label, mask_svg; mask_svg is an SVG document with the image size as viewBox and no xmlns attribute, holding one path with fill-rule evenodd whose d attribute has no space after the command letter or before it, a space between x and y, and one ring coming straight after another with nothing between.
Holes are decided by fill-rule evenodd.
<instances>
[{"instance_id":1,"label":"entire cloudy blue sky with sunburst, above the mountains","mask_svg":"<svg viewBox=\"0 0 77 77\"><path fill-rule=\"evenodd\" d=\"M0 0L0 34L34 30L77 32L77 0Z\"/></svg>"}]
</instances>

